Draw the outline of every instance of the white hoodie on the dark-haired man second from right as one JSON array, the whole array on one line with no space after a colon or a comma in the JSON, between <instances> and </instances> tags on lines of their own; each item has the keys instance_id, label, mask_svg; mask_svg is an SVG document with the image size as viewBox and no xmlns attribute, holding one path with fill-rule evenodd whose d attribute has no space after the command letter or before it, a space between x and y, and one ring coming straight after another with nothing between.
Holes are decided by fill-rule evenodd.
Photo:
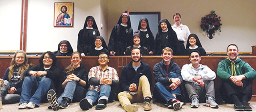
<instances>
[{"instance_id":1,"label":"white hoodie on the dark-haired man second from right","mask_svg":"<svg viewBox=\"0 0 256 112\"><path fill-rule=\"evenodd\" d=\"M201 75L200 80L213 80L216 78L216 73L212 71L208 66L200 64L199 68L195 69L192 63L185 64L181 69L181 76L184 81L194 82L193 77Z\"/></svg>"}]
</instances>

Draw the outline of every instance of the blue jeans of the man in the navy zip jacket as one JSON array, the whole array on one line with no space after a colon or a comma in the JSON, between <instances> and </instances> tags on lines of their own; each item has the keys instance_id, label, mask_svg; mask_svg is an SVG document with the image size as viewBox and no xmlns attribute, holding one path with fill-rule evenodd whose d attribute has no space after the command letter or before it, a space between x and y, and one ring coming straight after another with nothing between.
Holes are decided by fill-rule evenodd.
<instances>
[{"instance_id":1,"label":"blue jeans of the man in the navy zip jacket","mask_svg":"<svg viewBox=\"0 0 256 112\"><path fill-rule=\"evenodd\" d=\"M170 87L165 88L160 82L157 82L154 87L154 97L157 100L163 99L166 103L171 99L176 99L172 94L181 95L180 87L172 90Z\"/></svg>"}]
</instances>

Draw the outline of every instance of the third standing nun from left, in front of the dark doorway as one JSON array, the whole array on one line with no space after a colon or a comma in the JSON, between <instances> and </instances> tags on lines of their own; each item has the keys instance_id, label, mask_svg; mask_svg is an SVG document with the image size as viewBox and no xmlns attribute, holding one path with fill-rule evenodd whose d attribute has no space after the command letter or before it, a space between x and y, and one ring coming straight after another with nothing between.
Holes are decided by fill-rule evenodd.
<instances>
[{"instance_id":1,"label":"third standing nun from left, in front of the dark doorway","mask_svg":"<svg viewBox=\"0 0 256 112\"><path fill-rule=\"evenodd\" d=\"M150 30L147 18L140 18L138 30L134 33L140 33L140 45L148 48L149 54L153 54L155 39Z\"/></svg>"}]
</instances>

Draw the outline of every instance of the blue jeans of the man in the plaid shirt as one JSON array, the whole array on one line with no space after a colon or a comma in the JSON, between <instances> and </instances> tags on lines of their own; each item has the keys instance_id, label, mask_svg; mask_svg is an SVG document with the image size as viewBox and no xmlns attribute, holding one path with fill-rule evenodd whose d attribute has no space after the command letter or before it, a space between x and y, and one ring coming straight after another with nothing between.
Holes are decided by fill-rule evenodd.
<instances>
[{"instance_id":1,"label":"blue jeans of the man in the plaid shirt","mask_svg":"<svg viewBox=\"0 0 256 112\"><path fill-rule=\"evenodd\" d=\"M100 85L100 92L91 89L86 93L85 98L89 99L88 102L93 106L93 104L96 103L97 99L98 101L101 99L106 99L108 101L110 91L110 85ZM92 102L90 102L90 100L92 100Z\"/></svg>"}]
</instances>

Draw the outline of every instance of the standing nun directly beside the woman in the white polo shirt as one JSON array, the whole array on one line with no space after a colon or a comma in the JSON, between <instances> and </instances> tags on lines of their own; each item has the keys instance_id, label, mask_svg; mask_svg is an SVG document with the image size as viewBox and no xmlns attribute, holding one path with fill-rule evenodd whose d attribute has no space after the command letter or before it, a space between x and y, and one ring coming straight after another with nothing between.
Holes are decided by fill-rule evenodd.
<instances>
[{"instance_id":1,"label":"standing nun directly beside the woman in the white polo shirt","mask_svg":"<svg viewBox=\"0 0 256 112\"><path fill-rule=\"evenodd\" d=\"M162 23L162 26L161 26ZM166 24L166 25L165 25ZM170 47L174 55L182 55L177 35L173 31L171 24L167 19L161 19L158 24L158 33L156 34L154 54L161 55L162 49Z\"/></svg>"}]
</instances>

